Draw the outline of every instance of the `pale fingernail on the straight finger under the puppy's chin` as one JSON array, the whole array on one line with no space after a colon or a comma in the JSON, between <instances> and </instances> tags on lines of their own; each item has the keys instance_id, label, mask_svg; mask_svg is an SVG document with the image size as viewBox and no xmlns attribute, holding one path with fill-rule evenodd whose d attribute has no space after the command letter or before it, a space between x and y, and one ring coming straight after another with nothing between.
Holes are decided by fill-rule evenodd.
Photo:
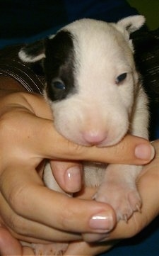
<instances>
[{"instance_id":1,"label":"pale fingernail on the straight finger under the puppy's chin","mask_svg":"<svg viewBox=\"0 0 159 256\"><path fill-rule=\"evenodd\" d=\"M135 148L135 155L143 160L152 160L155 156L155 149L152 145L140 144Z\"/></svg>"}]
</instances>

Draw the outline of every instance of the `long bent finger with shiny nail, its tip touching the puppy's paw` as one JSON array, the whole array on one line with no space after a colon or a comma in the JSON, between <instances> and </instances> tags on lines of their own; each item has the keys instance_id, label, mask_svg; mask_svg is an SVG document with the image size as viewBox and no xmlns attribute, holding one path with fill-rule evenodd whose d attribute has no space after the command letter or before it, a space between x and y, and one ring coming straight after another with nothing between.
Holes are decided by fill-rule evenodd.
<instances>
[{"instance_id":1,"label":"long bent finger with shiny nail, its tip touching the puppy's paw","mask_svg":"<svg viewBox=\"0 0 159 256\"><path fill-rule=\"evenodd\" d=\"M7 169L0 179L1 192L17 215L75 233L105 233L114 227L116 217L111 206L52 191L43 186L37 172L21 168Z\"/></svg>"}]
</instances>

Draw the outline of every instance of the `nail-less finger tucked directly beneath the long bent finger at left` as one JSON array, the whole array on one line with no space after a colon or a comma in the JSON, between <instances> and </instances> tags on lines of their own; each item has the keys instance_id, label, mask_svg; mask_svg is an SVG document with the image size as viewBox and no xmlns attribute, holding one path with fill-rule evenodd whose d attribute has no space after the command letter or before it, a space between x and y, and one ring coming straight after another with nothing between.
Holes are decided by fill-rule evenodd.
<instances>
[{"instance_id":1,"label":"nail-less finger tucked directly beneath the long bent finger at left","mask_svg":"<svg viewBox=\"0 0 159 256\"><path fill-rule=\"evenodd\" d=\"M1 208L1 223L7 223L7 228L11 234L19 240L31 243L44 243L54 240L68 241L79 240L81 235L76 233L64 232L56 228L50 228L44 224L31 221L17 215L7 204L7 202L0 197ZM45 234L45 235L44 235Z\"/></svg>"}]
</instances>

